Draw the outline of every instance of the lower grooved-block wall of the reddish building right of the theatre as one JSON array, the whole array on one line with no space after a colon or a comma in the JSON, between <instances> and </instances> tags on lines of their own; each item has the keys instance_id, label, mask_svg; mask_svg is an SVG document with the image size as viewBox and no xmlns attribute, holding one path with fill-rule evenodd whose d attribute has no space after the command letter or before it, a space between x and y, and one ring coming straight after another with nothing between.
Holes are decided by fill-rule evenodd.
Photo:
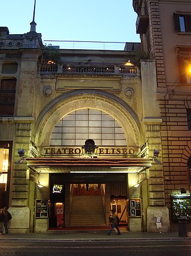
<instances>
[{"instance_id":1,"label":"lower grooved-block wall of the reddish building right of the theatre","mask_svg":"<svg viewBox=\"0 0 191 256\"><path fill-rule=\"evenodd\" d=\"M178 193L180 188L189 191L187 162L191 155L190 131L187 128L186 107L190 101L161 101L162 151L164 162L164 180L166 203L170 207L170 195Z\"/></svg>"}]
</instances>

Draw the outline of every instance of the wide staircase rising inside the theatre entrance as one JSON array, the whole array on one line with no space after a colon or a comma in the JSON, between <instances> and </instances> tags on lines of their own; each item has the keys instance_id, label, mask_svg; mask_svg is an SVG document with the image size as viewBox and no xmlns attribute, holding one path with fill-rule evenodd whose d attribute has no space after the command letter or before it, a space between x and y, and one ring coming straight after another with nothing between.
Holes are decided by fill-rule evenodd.
<instances>
[{"instance_id":1,"label":"wide staircase rising inside the theatre entrance","mask_svg":"<svg viewBox=\"0 0 191 256\"><path fill-rule=\"evenodd\" d=\"M74 196L70 214L70 227L105 226L100 196Z\"/></svg>"}]
</instances>

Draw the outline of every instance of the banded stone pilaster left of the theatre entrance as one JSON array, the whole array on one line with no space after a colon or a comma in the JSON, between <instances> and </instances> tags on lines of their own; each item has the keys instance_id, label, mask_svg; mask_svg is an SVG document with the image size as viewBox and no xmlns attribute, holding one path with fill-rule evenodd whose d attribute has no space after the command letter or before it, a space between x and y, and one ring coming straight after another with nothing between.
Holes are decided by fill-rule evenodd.
<instances>
[{"instance_id":1,"label":"banded stone pilaster left of the theatre entrance","mask_svg":"<svg viewBox=\"0 0 191 256\"><path fill-rule=\"evenodd\" d=\"M17 123L15 137L14 164L12 174L11 190L11 233L27 233L30 231L30 209L29 200L29 181L26 179L26 161L17 163L21 159L17 150L24 149L25 155L29 152L31 139L31 124Z\"/></svg>"}]
</instances>

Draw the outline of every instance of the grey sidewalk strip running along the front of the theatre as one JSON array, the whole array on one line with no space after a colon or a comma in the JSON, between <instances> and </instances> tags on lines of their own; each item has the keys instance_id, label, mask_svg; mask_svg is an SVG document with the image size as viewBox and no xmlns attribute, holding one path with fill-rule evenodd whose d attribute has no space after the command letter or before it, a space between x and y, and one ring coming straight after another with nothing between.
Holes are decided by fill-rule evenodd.
<instances>
[{"instance_id":1,"label":"grey sidewalk strip running along the front of the theatre","mask_svg":"<svg viewBox=\"0 0 191 256\"><path fill-rule=\"evenodd\" d=\"M191 239L191 232L187 237L178 237L178 232L146 233L121 230L121 236L113 233L109 236L107 231L47 231L47 233L10 233L0 236L1 240L172 240Z\"/></svg>"}]
</instances>

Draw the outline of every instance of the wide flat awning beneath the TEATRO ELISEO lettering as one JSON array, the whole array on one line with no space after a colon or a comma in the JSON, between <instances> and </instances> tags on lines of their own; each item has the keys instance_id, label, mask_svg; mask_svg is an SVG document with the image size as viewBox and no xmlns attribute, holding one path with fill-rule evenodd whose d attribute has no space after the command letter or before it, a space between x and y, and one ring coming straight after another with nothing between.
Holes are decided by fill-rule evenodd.
<instances>
[{"instance_id":1,"label":"wide flat awning beneath the TEATRO ELISEO lettering","mask_svg":"<svg viewBox=\"0 0 191 256\"><path fill-rule=\"evenodd\" d=\"M152 158L26 158L38 173L139 173L152 166Z\"/></svg>"}]
</instances>

